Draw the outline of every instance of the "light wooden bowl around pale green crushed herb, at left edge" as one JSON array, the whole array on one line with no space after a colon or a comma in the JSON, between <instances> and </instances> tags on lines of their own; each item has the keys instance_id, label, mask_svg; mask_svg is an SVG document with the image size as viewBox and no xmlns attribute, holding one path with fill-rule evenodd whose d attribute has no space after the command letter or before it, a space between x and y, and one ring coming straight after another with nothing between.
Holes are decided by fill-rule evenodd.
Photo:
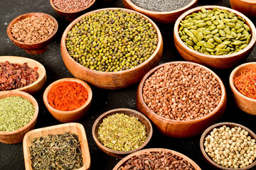
<instances>
[{"instance_id":1,"label":"light wooden bowl around pale green crushed herb, at left edge","mask_svg":"<svg viewBox=\"0 0 256 170\"><path fill-rule=\"evenodd\" d=\"M21 96L23 98L28 99L28 101L31 101L35 108L35 113L31 121L28 124L26 124L23 128L10 132L0 131L0 142L3 142L5 144L16 144L21 142L26 132L28 132L28 130L32 130L35 127L36 119L38 117L38 103L36 102L36 99L33 98L33 96L23 91L5 91L0 93L0 99L11 96Z\"/></svg>"}]
</instances>

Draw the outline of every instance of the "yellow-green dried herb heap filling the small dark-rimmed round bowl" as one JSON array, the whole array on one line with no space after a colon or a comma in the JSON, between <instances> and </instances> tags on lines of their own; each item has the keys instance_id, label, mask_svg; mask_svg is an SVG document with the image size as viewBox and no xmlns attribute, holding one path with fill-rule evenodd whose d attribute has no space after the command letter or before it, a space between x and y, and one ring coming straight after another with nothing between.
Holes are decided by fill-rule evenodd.
<instances>
[{"instance_id":1,"label":"yellow-green dried herb heap filling the small dark-rimmed round bowl","mask_svg":"<svg viewBox=\"0 0 256 170\"><path fill-rule=\"evenodd\" d=\"M105 147L127 152L141 146L146 140L146 126L133 115L116 113L102 121L98 139Z\"/></svg>"}]
</instances>

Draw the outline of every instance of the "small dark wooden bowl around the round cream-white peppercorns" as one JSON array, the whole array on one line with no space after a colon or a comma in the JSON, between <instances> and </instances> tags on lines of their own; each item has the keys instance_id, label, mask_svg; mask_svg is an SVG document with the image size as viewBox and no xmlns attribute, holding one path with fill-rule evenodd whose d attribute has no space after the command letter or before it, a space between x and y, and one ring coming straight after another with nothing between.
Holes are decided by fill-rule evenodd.
<instances>
[{"instance_id":1,"label":"small dark wooden bowl around the round cream-white peppercorns","mask_svg":"<svg viewBox=\"0 0 256 170\"><path fill-rule=\"evenodd\" d=\"M256 140L256 135L254 132L252 132L252 130L246 128L245 126L243 125L240 125L238 123L217 123L215 125L212 125L210 126L209 128L207 128L204 132L203 132L203 135L201 136L201 139L200 139L200 149L201 149L201 152L203 154L203 157L206 159L206 162L208 162L211 166L215 167L215 169L224 169L224 170L245 170L245 169L251 169L253 166L255 166L256 164L256 161L254 161L252 164L250 164L249 166L246 166L245 168L239 168L239 169L230 169L230 168L226 168L224 166L220 166L219 164L213 162L212 159L210 159L210 157L208 157L208 154L206 154L206 151L204 149L204 146L203 146L203 143L204 143L204 140L205 138L210 134L210 132L212 132L212 130L214 128L220 128L222 127L223 125L226 125L227 127L230 127L230 128L234 128L234 127L240 127L244 130L247 130L247 132L249 132L250 134L250 137L252 137L252 139L255 139Z\"/></svg>"}]
</instances>

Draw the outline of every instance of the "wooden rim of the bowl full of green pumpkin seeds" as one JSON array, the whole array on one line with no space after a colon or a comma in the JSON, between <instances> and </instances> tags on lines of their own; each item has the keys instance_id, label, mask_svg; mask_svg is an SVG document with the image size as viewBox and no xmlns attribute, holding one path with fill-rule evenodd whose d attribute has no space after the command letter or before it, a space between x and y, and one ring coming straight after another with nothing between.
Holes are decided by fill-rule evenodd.
<instances>
[{"instance_id":1,"label":"wooden rim of the bowl full of green pumpkin seeds","mask_svg":"<svg viewBox=\"0 0 256 170\"><path fill-rule=\"evenodd\" d=\"M188 47L187 45L184 44L184 42L181 40L180 35L178 35L178 28L179 28L179 24L181 23L181 20L183 18L185 18L186 16L188 16L189 14L193 13L193 12L197 12L197 11L201 11L201 8L206 8L206 9L213 9L213 8L219 8L219 9L225 9L228 10L230 12L233 12L236 14L236 16L241 16L242 18L245 18L245 23L247 23L247 26L250 27L250 32L252 35L252 38L249 42L249 44L242 50L240 50L239 52L234 52L233 54L230 55L206 55L203 54L201 52L197 52L196 50L192 50L190 47ZM249 50L250 48L252 48L256 42L256 28L255 25L252 23L252 21L250 21L249 18L247 18L247 16L245 16L244 14L240 13L239 11L235 11L232 8L227 8L225 6L198 6L196 8L191 8L190 10L186 11L185 13L183 13L181 16L178 17L178 19L175 22L174 25L174 37L176 37L177 42L184 47L188 52L193 53L194 55L198 55L200 57L204 57L207 59L224 59L224 58L229 58L229 57L235 57L238 55L241 55L244 52L247 52L247 50Z\"/></svg>"}]
</instances>

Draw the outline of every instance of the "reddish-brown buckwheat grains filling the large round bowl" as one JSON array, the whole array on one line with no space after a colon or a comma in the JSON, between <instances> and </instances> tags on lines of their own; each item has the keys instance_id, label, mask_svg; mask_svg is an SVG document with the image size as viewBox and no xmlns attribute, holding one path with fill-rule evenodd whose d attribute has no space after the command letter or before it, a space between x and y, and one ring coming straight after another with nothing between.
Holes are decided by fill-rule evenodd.
<instances>
[{"instance_id":1,"label":"reddish-brown buckwheat grains filling the large round bowl","mask_svg":"<svg viewBox=\"0 0 256 170\"><path fill-rule=\"evenodd\" d=\"M194 120L212 112L220 102L220 84L196 64L165 64L146 79L146 105L172 120Z\"/></svg>"}]
</instances>

